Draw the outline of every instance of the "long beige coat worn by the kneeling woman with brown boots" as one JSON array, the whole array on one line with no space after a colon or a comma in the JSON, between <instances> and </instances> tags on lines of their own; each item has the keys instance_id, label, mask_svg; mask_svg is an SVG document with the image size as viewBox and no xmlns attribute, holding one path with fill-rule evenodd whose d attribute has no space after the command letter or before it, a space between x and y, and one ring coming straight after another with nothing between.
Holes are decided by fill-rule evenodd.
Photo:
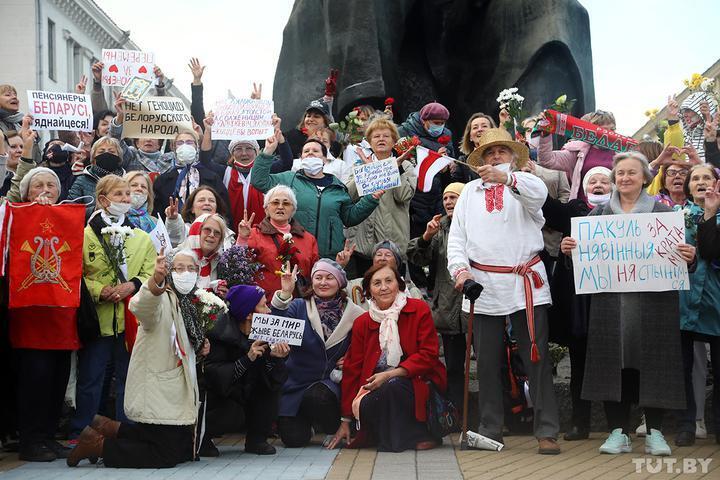
<instances>
[{"instance_id":1,"label":"long beige coat worn by the kneeling woman with brown boots","mask_svg":"<svg viewBox=\"0 0 720 480\"><path fill-rule=\"evenodd\" d=\"M195 424L195 352L175 293L168 289L155 296L145 283L130 300L130 311L140 326L125 383L125 414L141 423Z\"/></svg>"}]
</instances>

